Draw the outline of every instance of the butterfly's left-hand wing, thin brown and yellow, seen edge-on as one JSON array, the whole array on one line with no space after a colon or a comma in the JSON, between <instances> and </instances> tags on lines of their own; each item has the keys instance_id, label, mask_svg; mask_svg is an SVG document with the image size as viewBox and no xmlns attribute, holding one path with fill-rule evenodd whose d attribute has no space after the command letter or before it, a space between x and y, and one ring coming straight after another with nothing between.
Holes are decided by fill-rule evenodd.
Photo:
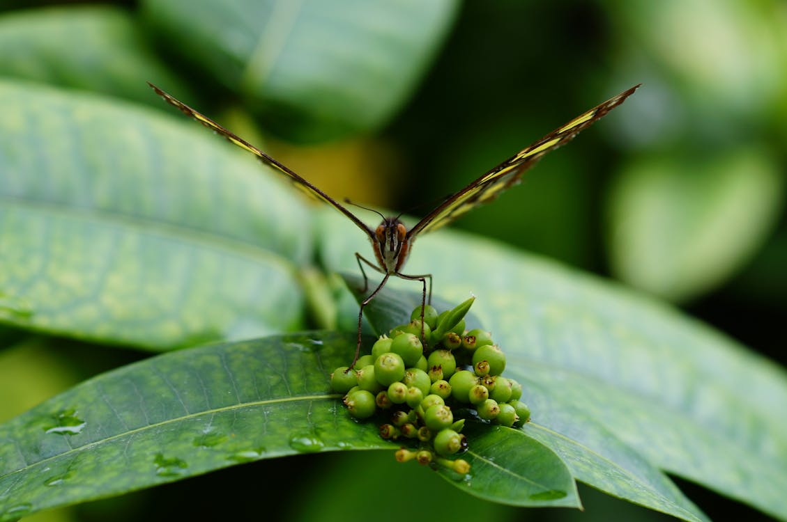
<instances>
[{"instance_id":1,"label":"butterfly's left-hand wing, thin brown and yellow, seen edge-on","mask_svg":"<svg viewBox=\"0 0 787 522\"><path fill-rule=\"evenodd\" d=\"M311 183L306 181L301 176L297 175L294 171L290 169L290 167L286 167L286 165L279 163L279 161L273 159L268 154L262 152L260 149L257 149L254 145L251 145L249 142L246 142L243 138L238 138L235 134L232 134L229 130L225 129L224 127L220 126L218 123L210 119L208 116L201 114L200 112L190 108L188 105L176 99L176 97L171 96L170 94L165 93L163 90L159 89L157 86L153 85L153 83L148 82L148 85L156 91L156 94L164 98L169 105L173 105L176 108L179 108L183 114L186 116L190 116L191 118L196 119L199 123L205 125L209 129L214 130L216 133L221 134L224 138L227 138L228 142L234 143L238 145L241 149L246 149L249 153L252 153L254 156L257 156L257 159L260 160L263 164L271 167L273 170L279 172L279 174L284 175L290 182L293 182L294 186L298 189L301 189L304 193L306 193L309 197L314 197L318 200L323 200L327 204L332 205L338 211L342 212L342 214L346 215L352 222L354 222L360 230L364 230L365 233L369 237L374 240L375 234L372 230L364 224L363 221L357 218L351 211L347 210L342 204L339 204L338 201L334 200L332 197L328 196L322 190L318 189L316 186L313 186Z\"/></svg>"}]
</instances>

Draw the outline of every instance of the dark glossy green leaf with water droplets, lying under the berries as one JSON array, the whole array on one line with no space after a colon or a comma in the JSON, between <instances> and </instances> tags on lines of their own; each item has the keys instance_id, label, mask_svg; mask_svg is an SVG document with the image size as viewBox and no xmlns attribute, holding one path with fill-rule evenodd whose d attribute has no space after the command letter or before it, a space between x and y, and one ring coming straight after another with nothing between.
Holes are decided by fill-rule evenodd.
<instances>
[{"instance_id":1,"label":"dark glossy green leaf with water droplets, lying under the berries","mask_svg":"<svg viewBox=\"0 0 787 522\"><path fill-rule=\"evenodd\" d=\"M338 333L214 344L79 384L0 426L0 520L261 458L394 450L329 391L353 346ZM473 472L459 487L515 505L578 505L567 469L535 439L484 427L472 437ZM515 465L501 470L506 460Z\"/></svg>"}]
</instances>

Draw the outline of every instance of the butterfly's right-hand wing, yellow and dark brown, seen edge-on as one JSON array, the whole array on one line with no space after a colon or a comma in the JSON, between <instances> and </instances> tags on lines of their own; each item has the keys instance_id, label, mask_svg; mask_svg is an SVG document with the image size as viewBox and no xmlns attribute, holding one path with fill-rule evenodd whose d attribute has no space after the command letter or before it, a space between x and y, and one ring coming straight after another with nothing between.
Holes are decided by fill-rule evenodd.
<instances>
[{"instance_id":1,"label":"butterfly's right-hand wing, yellow and dark brown, seen edge-on","mask_svg":"<svg viewBox=\"0 0 787 522\"><path fill-rule=\"evenodd\" d=\"M416 223L416 226L408 230L408 239L412 240L418 233L437 230L441 226L453 222L465 212L494 200L505 189L516 185L524 172L533 167L541 159L541 156L557 149L560 145L570 142L579 131L586 129L597 119L604 117L613 108L622 104L627 97L637 90L637 87L639 85L635 85L629 90L591 108L588 112L577 116L562 127L552 130L538 142L525 147L519 153L511 156L485 175L471 182L470 185L443 201L442 204L438 205L438 208L435 208Z\"/></svg>"}]
</instances>

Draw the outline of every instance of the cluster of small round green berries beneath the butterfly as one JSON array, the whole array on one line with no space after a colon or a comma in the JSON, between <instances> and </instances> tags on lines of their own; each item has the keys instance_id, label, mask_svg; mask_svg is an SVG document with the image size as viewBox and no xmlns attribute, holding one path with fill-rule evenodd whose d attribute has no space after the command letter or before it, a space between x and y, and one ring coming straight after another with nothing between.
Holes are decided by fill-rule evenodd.
<instances>
[{"instance_id":1,"label":"cluster of small round green berries beneath the butterfly","mask_svg":"<svg viewBox=\"0 0 787 522\"><path fill-rule=\"evenodd\" d=\"M498 425L530 420L530 410L519 400L522 385L501 376L503 351L489 332L464 328L474 300L442 314L428 305L423 313L417 307L411 322L391 329L390 337L381 336L370 355L358 358L352 369L341 366L331 374L331 386L345 393L353 417L386 411L390 422L380 426L383 439L419 441L418 450L397 451L399 461L434 462L464 474L470 470L467 461L447 457L467 448L462 429L473 410ZM464 417L455 418L455 411Z\"/></svg>"}]
</instances>

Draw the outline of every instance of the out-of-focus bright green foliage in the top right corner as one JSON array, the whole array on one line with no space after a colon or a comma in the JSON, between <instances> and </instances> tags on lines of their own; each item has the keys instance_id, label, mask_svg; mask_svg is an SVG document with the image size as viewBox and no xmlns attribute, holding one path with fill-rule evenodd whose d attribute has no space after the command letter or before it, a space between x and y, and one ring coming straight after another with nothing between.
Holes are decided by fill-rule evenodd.
<instances>
[{"instance_id":1,"label":"out-of-focus bright green foliage in the top right corner","mask_svg":"<svg viewBox=\"0 0 787 522\"><path fill-rule=\"evenodd\" d=\"M691 98L691 125L718 132L714 127L729 126L732 114L748 124L756 122L752 116L783 121L787 74L779 65L787 59L787 50L781 39L781 8L771 0L637 0L608 14L632 43L624 51L630 54L630 67L641 70L645 62L645 67L660 68L667 85L679 86ZM679 105L668 112L682 116Z\"/></svg>"}]
</instances>

